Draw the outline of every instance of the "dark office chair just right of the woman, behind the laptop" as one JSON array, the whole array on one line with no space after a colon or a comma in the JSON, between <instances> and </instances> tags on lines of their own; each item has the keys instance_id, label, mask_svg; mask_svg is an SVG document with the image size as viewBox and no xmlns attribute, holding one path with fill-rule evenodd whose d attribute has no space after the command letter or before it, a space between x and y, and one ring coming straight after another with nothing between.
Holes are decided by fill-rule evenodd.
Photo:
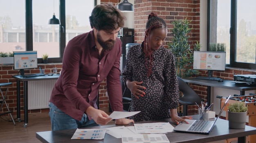
<instances>
[{"instance_id":1,"label":"dark office chair just right of the woman, behind the laptop","mask_svg":"<svg viewBox=\"0 0 256 143\"><path fill-rule=\"evenodd\" d=\"M187 106L195 105L195 102L200 104L202 99L200 96L186 83L182 78L177 77L179 82L179 89L183 96L179 99L180 104L183 105L183 115L188 115Z\"/></svg>"}]
</instances>

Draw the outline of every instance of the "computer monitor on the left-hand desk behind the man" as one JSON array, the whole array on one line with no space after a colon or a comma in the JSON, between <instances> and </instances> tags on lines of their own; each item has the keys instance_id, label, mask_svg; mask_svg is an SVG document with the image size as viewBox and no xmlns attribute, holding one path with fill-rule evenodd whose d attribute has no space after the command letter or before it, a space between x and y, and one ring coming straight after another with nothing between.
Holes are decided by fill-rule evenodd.
<instances>
[{"instance_id":1,"label":"computer monitor on the left-hand desk behind the man","mask_svg":"<svg viewBox=\"0 0 256 143\"><path fill-rule=\"evenodd\" d=\"M14 69L20 69L20 75L24 75L24 69L37 68L37 51L14 51Z\"/></svg>"}]
</instances>

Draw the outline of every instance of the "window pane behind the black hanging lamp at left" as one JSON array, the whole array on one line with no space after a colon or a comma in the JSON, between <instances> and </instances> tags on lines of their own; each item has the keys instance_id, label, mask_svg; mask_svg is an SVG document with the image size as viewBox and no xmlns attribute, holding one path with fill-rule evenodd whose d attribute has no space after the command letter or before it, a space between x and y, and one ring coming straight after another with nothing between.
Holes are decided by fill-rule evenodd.
<instances>
[{"instance_id":1,"label":"window pane behind the black hanging lamp at left","mask_svg":"<svg viewBox=\"0 0 256 143\"><path fill-rule=\"evenodd\" d=\"M58 0L32 0L33 50L38 58L60 58L59 25L48 24L53 13L59 19ZM43 12L42 12L43 11Z\"/></svg>"}]
</instances>

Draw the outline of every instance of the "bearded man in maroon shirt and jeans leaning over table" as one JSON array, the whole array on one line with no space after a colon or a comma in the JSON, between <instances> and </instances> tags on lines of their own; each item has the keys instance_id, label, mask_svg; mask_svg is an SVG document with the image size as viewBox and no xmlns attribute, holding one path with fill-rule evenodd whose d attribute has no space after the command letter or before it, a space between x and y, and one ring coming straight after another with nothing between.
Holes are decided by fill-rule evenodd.
<instances>
[{"instance_id":1,"label":"bearded man in maroon shirt and jeans leaning over table","mask_svg":"<svg viewBox=\"0 0 256 143\"><path fill-rule=\"evenodd\" d=\"M74 37L67 44L61 76L49 100L52 130L106 125L111 118L97 109L101 82L106 78L112 111L123 111L120 82L121 40L117 34L125 17L111 3L94 7L92 31ZM134 123L117 119L116 124Z\"/></svg>"}]
</instances>

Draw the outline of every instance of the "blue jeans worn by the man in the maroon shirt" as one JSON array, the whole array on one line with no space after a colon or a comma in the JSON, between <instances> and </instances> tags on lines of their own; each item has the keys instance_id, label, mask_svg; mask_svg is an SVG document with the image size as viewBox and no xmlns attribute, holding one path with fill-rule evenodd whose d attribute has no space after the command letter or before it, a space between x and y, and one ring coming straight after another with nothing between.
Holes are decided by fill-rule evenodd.
<instances>
[{"instance_id":1,"label":"blue jeans worn by the man in the maroon shirt","mask_svg":"<svg viewBox=\"0 0 256 143\"><path fill-rule=\"evenodd\" d=\"M73 119L51 102L49 104L49 109L53 131L99 126L93 119L89 120L86 114L83 114L81 121Z\"/></svg>"}]
</instances>

